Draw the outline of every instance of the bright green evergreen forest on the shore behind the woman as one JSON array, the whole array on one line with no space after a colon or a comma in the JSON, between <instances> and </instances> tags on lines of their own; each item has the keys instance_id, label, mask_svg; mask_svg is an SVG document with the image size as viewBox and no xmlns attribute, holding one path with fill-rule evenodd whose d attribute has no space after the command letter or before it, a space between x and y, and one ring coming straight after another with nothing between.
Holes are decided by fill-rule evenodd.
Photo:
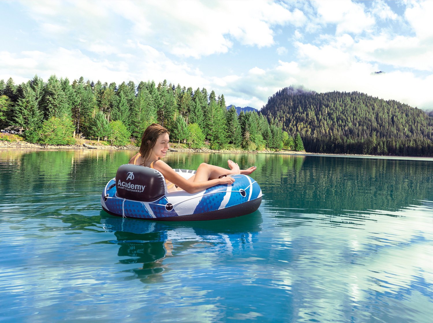
<instances>
[{"instance_id":1,"label":"bright green evergreen forest on the shore behind the woman","mask_svg":"<svg viewBox=\"0 0 433 323\"><path fill-rule=\"evenodd\" d=\"M76 139L102 139L116 146L140 144L145 128L159 123L172 142L191 148L304 150L301 137L289 135L281 123L256 112L226 108L224 95L193 90L166 80L96 83L83 77L72 83L52 75L35 76L16 85L0 80L0 126L23 129L26 141L74 144ZM295 140L298 138L299 140Z\"/></svg>"}]
</instances>

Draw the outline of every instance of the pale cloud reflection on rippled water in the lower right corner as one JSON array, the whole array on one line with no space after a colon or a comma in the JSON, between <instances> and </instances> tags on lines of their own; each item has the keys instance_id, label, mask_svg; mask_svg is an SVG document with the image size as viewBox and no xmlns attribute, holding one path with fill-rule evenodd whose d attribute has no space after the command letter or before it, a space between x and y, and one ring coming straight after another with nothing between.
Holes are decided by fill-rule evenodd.
<instances>
[{"instance_id":1,"label":"pale cloud reflection on rippled water in the lower right corner","mask_svg":"<svg viewBox=\"0 0 433 323\"><path fill-rule=\"evenodd\" d=\"M372 212L343 230L325 220L278 231L274 241L286 249L270 256L290 266L274 282L291 290L296 322L427 322L428 304L419 298L433 299L433 202L421 203L392 217ZM279 217L278 225L292 221Z\"/></svg>"}]
</instances>

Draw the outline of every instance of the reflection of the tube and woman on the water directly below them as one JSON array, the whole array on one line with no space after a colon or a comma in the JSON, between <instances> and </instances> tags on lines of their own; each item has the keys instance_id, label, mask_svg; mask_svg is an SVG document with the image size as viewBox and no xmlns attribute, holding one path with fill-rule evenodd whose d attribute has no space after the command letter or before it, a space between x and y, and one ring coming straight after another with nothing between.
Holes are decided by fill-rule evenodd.
<instances>
[{"instance_id":1,"label":"reflection of the tube and woman on the water directly below them","mask_svg":"<svg viewBox=\"0 0 433 323\"><path fill-rule=\"evenodd\" d=\"M221 253L227 256L253 249L261 230L259 211L244 217L219 221L156 222L113 217L101 211L103 228L114 232L120 263L133 266L127 279L144 283L162 281L170 270L166 259L183 253Z\"/></svg>"}]
</instances>

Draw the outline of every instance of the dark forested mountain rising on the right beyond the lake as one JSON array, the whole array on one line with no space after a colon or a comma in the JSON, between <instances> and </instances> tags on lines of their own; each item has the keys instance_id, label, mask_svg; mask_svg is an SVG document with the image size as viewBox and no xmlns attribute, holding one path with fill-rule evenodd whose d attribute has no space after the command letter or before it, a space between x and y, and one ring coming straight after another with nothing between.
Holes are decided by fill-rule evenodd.
<instances>
[{"instance_id":1,"label":"dark forested mountain rising on the right beyond the lake","mask_svg":"<svg viewBox=\"0 0 433 323\"><path fill-rule=\"evenodd\" d=\"M309 152L433 156L433 118L394 100L288 87L260 113L288 134L301 134Z\"/></svg>"}]
</instances>

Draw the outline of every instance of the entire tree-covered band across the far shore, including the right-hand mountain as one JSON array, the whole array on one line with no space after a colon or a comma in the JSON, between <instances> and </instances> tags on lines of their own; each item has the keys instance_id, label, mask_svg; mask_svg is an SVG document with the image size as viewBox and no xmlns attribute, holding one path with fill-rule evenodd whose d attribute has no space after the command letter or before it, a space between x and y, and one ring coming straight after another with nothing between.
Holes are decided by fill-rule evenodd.
<instances>
[{"instance_id":1,"label":"entire tree-covered band across the far shore, including the right-hand mountain","mask_svg":"<svg viewBox=\"0 0 433 323\"><path fill-rule=\"evenodd\" d=\"M166 80L119 85L83 77L71 83L55 75L46 82L38 76L21 84L0 80L0 128L23 129L32 143L87 138L139 145L154 122L168 128L172 142L190 148L433 156L432 116L359 92L287 87L260 112L238 115L235 106L226 107L223 94Z\"/></svg>"}]
</instances>

